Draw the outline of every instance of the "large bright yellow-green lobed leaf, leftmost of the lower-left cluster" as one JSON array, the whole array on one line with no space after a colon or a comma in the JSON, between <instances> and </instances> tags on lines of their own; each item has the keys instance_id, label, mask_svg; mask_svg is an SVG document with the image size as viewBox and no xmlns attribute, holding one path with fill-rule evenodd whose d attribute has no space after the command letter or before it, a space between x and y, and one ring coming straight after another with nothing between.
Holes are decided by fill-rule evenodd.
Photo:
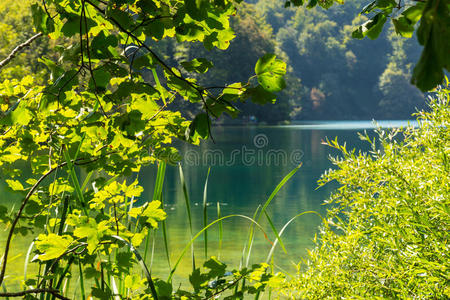
<instances>
[{"instance_id":1,"label":"large bright yellow-green lobed leaf, leftmost of the lower-left cluster","mask_svg":"<svg viewBox=\"0 0 450 300\"><path fill-rule=\"evenodd\" d=\"M68 235L59 236L54 233L40 234L36 241L36 248L42 252L38 256L41 261L60 257L67 251L73 238Z\"/></svg>"}]
</instances>

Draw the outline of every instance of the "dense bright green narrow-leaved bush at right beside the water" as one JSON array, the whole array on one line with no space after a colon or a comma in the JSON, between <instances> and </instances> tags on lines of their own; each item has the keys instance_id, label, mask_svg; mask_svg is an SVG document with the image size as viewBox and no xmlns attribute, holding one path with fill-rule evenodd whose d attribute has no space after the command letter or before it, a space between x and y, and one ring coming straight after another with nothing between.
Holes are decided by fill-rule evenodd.
<instances>
[{"instance_id":1,"label":"dense bright green narrow-leaved bush at right beside the water","mask_svg":"<svg viewBox=\"0 0 450 300\"><path fill-rule=\"evenodd\" d=\"M418 128L377 130L371 151L340 150L317 247L282 294L306 299L448 299L450 90L440 89Z\"/></svg>"}]
</instances>

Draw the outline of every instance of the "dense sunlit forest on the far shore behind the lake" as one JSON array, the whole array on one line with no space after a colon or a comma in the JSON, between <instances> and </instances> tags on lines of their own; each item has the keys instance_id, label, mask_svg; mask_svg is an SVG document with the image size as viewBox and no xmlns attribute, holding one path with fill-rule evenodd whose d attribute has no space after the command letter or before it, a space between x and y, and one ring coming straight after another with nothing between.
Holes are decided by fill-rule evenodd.
<instances>
[{"instance_id":1,"label":"dense sunlit forest on the far shore behind the lake","mask_svg":"<svg viewBox=\"0 0 450 300\"><path fill-rule=\"evenodd\" d=\"M14 12L11 4L22 5L13 1L0 4L1 26L8 29L2 30L8 36L0 41L1 51L5 52L1 54L31 32L31 16ZM392 25L386 26L377 40L352 39L355 26L367 20L358 15L364 4L363 0L351 0L328 10L307 10L285 8L282 1L251 0L242 3L231 19L236 38L226 50L206 50L200 42L175 38L154 43L153 47L173 65L194 57L211 60L214 67L208 76L197 76L205 86L249 78L257 59L265 53L276 53L287 62L287 89L278 95L276 105L240 103L237 108L242 113L237 120L225 116L217 123L408 119L424 107L424 95L410 84L421 47L415 37L407 39L396 34ZM19 31L23 26L30 30ZM148 43L152 44L152 40ZM30 51L15 62L15 68L0 76L17 75L24 72L23 68L42 69L44 73L46 68L37 57L55 55L48 52L48 41L39 44L37 51ZM182 100L171 106L183 111L188 119L201 110L200 104Z\"/></svg>"}]
</instances>

